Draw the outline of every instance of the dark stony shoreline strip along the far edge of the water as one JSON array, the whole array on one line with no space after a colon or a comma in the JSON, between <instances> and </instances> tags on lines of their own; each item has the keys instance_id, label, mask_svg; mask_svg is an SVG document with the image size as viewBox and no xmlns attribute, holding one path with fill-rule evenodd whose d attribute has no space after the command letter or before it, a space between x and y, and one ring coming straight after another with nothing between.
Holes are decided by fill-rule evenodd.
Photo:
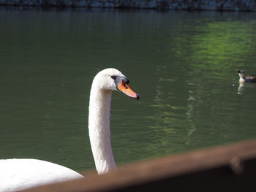
<instances>
[{"instance_id":1,"label":"dark stony shoreline strip along the far edge of the water","mask_svg":"<svg viewBox=\"0 0 256 192\"><path fill-rule=\"evenodd\" d=\"M0 6L255 12L255 0L0 0Z\"/></svg>"}]
</instances>

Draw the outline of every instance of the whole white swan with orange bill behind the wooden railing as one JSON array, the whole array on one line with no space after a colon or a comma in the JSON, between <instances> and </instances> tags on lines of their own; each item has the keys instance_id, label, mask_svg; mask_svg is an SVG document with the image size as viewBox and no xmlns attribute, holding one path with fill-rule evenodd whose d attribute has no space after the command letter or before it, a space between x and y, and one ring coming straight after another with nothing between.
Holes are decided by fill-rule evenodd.
<instances>
[{"instance_id":1,"label":"whole white swan with orange bill behind the wooden railing","mask_svg":"<svg viewBox=\"0 0 256 192\"><path fill-rule=\"evenodd\" d=\"M89 104L89 137L95 166L99 174L116 169L110 143L111 92L121 91L139 99L127 85L129 80L117 69L99 72L91 85ZM56 183L83 176L77 172L37 159L0 160L0 191L18 191L37 185Z\"/></svg>"}]
</instances>

